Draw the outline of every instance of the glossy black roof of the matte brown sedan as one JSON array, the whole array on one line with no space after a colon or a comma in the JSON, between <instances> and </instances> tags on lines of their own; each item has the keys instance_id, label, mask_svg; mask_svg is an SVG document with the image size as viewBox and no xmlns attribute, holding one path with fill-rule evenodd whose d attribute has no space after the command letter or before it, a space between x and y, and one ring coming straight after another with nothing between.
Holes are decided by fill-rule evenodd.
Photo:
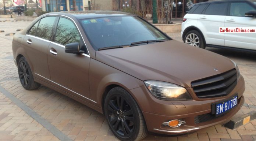
<instances>
[{"instance_id":1,"label":"glossy black roof of the matte brown sedan","mask_svg":"<svg viewBox=\"0 0 256 141\"><path fill-rule=\"evenodd\" d=\"M88 19L88 18L100 18L110 16L133 16L133 14L120 12L120 11L62 11L62 12L50 12L46 15L57 14L64 16L74 16L77 19Z\"/></svg>"}]
</instances>

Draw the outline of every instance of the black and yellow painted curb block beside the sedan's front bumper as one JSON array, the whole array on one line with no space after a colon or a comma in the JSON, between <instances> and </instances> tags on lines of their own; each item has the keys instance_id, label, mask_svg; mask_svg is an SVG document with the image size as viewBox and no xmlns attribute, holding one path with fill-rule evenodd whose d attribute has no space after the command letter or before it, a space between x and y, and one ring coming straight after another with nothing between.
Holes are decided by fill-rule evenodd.
<instances>
[{"instance_id":1,"label":"black and yellow painted curb block beside the sedan's front bumper","mask_svg":"<svg viewBox=\"0 0 256 141\"><path fill-rule=\"evenodd\" d=\"M253 119L256 119L256 111L251 111L248 114L242 115L241 117L232 119L228 123L225 123L224 126L229 129L236 129L241 125L246 125Z\"/></svg>"}]
</instances>

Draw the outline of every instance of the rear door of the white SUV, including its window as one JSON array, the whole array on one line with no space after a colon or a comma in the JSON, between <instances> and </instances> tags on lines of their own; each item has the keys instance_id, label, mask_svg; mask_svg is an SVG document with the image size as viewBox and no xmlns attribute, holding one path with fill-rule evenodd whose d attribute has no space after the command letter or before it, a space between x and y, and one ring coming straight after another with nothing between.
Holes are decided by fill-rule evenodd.
<instances>
[{"instance_id":1,"label":"rear door of the white SUV, including its window","mask_svg":"<svg viewBox=\"0 0 256 141\"><path fill-rule=\"evenodd\" d=\"M197 27L202 31L206 44L225 45L224 34L218 32L224 27L228 3L210 3L198 16Z\"/></svg>"}]
</instances>

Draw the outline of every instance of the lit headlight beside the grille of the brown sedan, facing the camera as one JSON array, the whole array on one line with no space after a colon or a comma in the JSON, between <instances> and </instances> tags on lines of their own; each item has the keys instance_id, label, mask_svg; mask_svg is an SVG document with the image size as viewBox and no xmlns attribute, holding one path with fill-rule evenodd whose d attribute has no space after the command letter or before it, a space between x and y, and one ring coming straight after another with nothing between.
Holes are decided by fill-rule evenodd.
<instances>
[{"instance_id":1,"label":"lit headlight beside the grille of the brown sedan, facing the camera","mask_svg":"<svg viewBox=\"0 0 256 141\"><path fill-rule=\"evenodd\" d=\"M187 90L181 86L154 80L147 80L144 83L149 92L158 99L173 101L192 100Z\"/></svg>"}]
</instances>

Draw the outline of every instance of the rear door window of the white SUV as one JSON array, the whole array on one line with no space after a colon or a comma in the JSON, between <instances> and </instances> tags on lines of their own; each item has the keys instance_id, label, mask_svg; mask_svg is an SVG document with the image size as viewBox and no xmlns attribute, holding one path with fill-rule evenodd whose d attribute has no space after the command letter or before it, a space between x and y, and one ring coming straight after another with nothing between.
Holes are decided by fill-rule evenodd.
<instances>
[{"instance_id":1,"label":"rear door window of the white SUV","mask_svg":"<svg viewBox=\"0 0 256 141\"><path fill-rule=\"evenodd\" d=\"M227 3L210 4L206 10L206 15L227 15Z\"/></svg>"}]
</instances>

